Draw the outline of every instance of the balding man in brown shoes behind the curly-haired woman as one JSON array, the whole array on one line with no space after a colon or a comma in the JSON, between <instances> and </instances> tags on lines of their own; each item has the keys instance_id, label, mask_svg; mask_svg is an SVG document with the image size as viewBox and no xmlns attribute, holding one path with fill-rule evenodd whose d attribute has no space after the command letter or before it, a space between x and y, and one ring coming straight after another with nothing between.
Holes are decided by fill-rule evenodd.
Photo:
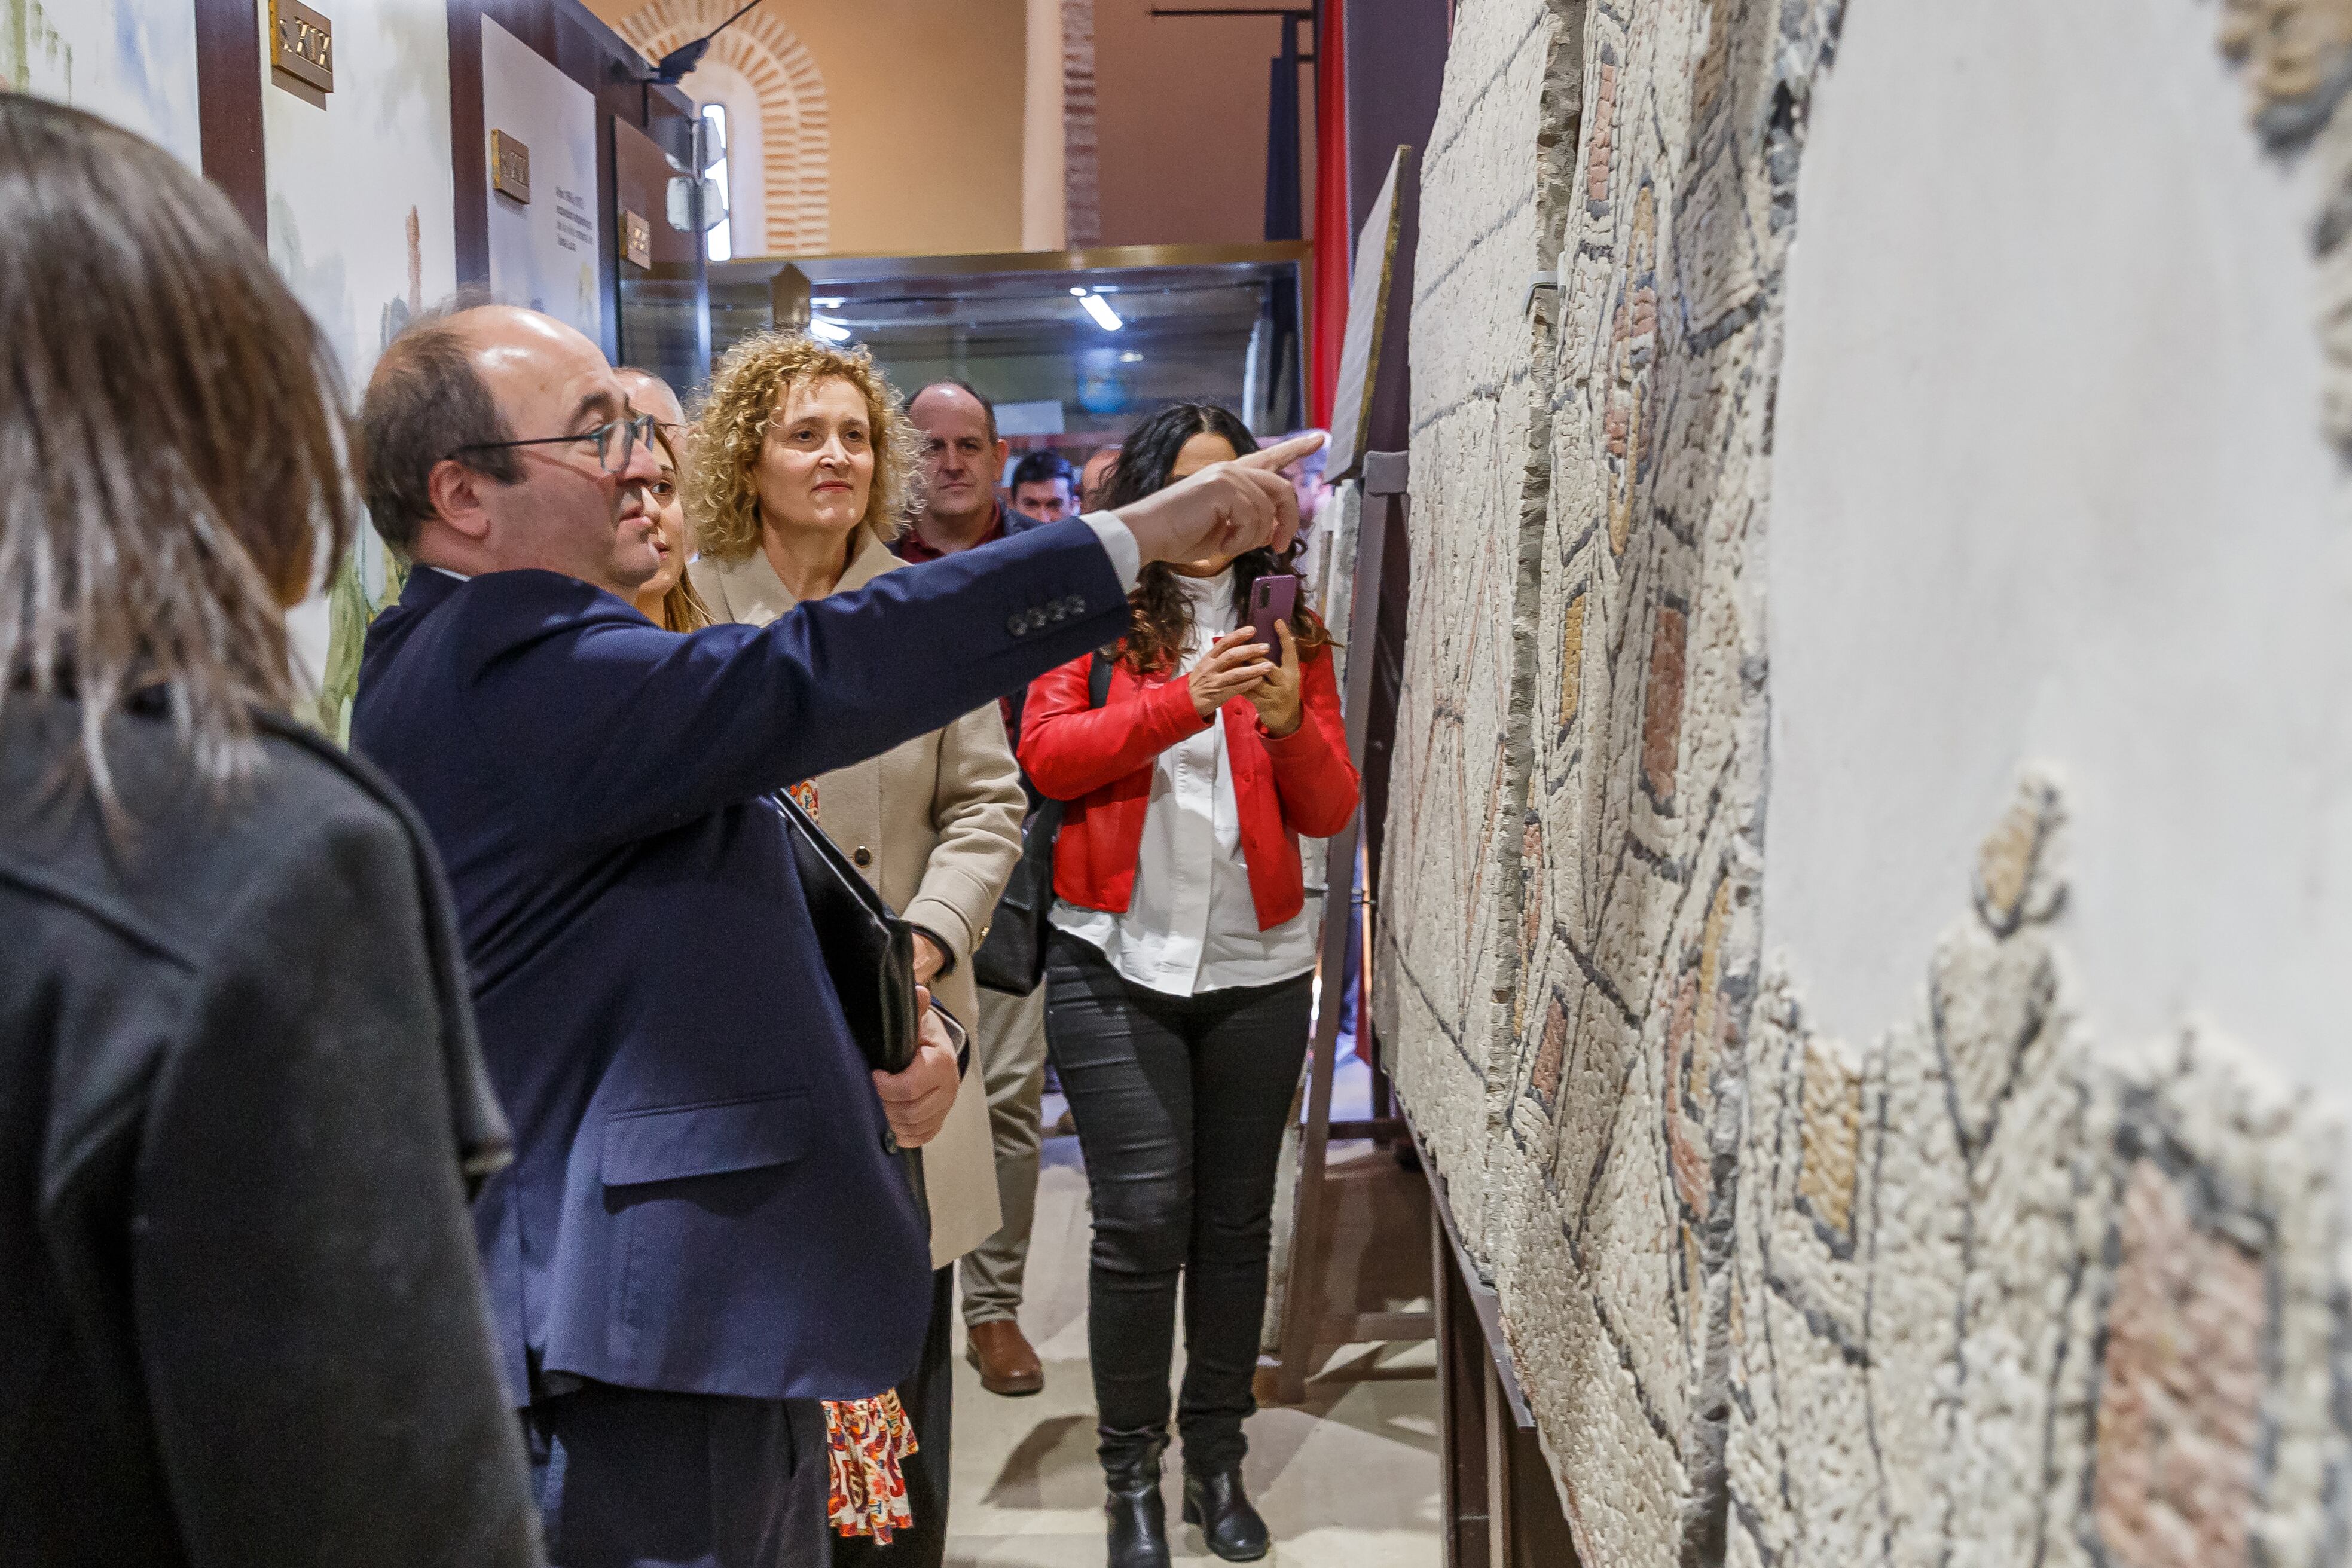
<instances>
[{"instance_id":1,"label":"balding man in brown shoes behind the curly-haired woman","mask_svg":"<svg viewBox=\"0 0 2352 1568\"><path fill-rule=\"evenodd\" d=\"M962 381L934 381L906 404L922 433L922 510L894 545L910 562L931 562L1042 527L997 501L1007 442L997 414ZM1068 465L1065 465L1068 468ZM1014 484L1018 494L1018 477ZM1073 508L1075 510L1075 508ZM1007 733L1021 736L1021 693L1002 698ZM1023 778L1025 783L1025 778ZM1030 809L1037 792L1030 792ZM1025 997L978 987L978 1065L988 1084L988 1131L997 1157L997 1206L1004 1225L964 1253L964 1356L990 1394L1035 1394L1044 1363L1021 1333L1021 1276L1037 1218L1037 1150L1044 1103L1044 987Z\"/></svg>"}]
</instances>

